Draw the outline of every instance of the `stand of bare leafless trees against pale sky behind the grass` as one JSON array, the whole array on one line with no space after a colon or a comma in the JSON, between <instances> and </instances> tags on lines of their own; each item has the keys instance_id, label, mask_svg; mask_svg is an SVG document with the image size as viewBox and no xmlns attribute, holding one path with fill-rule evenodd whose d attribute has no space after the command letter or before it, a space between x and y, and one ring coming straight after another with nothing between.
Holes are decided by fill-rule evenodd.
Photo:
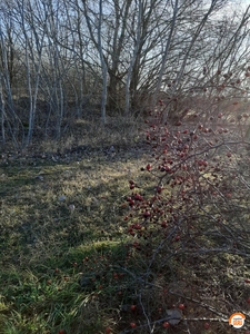
<instances>
[{"instance_id":1,"label":"stand of bare leafless trees against pale sky behind the grass","mask_svg":"<svg viewBox=\"0 0 250 334\"><path fill-rule=\"evenodd\" d=\"M159 99L173 119L247 104L249 19L237 0L2 0L1 147L59 139L93 115L142 115Z\"/></svg>"}]
</instances>

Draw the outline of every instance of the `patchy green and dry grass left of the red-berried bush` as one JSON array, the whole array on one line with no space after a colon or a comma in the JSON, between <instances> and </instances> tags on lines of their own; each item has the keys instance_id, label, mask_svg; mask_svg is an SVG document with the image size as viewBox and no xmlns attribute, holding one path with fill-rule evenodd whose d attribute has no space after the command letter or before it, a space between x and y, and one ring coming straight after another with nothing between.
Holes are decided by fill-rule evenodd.
<instances>
[{"instance_id":1,"label":"patchy green and dry grass left of the red-berried bush","mask_svg":"<svg viewBox=\"0 0 250 334\"><path fill-rule=\"evenodd\" d=\"M98 138L94 128L91 138L81 130L84 146L77 151L57 155L49 144L44 153L2 156L0 333L101 333L117 321L114 269L104 289L101 277L91 285L94 293L79 282L86 272L96 277L97 258L106 267L124 257L124 196L143 153L116 145L113 129Z\"/></svg>"}]
</instances>

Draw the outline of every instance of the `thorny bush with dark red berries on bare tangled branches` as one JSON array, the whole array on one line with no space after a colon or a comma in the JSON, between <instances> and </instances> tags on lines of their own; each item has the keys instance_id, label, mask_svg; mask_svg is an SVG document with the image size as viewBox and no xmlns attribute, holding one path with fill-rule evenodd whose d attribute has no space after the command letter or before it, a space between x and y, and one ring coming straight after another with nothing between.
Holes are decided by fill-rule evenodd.
<instances>
[{"instance_id":1,"label":"thorny bush with dark red berries on bare tangled branches","mask_svg":"<svg viewBox=\"0 0 250 334\"><path fill-rule=\"evenodd\" d=\"M122 333L230 333L229 316L249 312L248 115L169 125L159 105L146 120L148 181L129 181L137 312Z\"/></svg>"}]
</instances>

